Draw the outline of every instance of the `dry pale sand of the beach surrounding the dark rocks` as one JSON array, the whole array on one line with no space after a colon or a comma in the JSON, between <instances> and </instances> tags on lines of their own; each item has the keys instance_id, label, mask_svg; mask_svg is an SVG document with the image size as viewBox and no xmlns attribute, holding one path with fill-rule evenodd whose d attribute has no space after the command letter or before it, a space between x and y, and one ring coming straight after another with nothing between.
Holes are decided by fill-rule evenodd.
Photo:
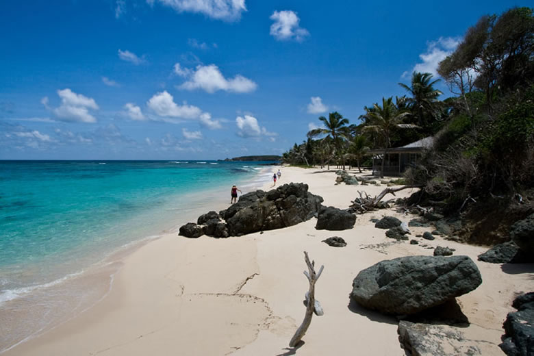
<instances>
[{"instance_id":1,"label":"dry pale sand of the beach surrounding the dark rocks","mask_svg":"<svg viewBox=\"0 0 534 356\"><path fill-rule=\"evenodd\" d=\"M374 195L385 188L335 186L333 171L282 168L282 173L278 185L303 181L310 192L323 196L325 205L335 207L347 207L357 190ZM403 190L397 196L410 193ZM533 268L478 262L476 255L485 247L439 237L417 238L419 245L395 242L370 222L384 214L413 218L390 209L360 215L346 231L317 231L312 218L241 238L169 234L123 259L101 303L5 355L292 355L295 350L288 342L304 316L308 288L303 251L318 266L325 265L316 284L325 316L314 317L296 353L403 355L396 320L350 303L348 294L360 270L383 259L431 255L425 244L452 247L456 255L468 255L479 266L483 284L458 298L472 323L462 331L467 338L487 341L483 355L503 355L496 346L503 320L516 292L534 290ZM414 237L425 229L411 231ZM348 246L333 248L321 242L330 236L341 236Z\"/></svg>"}]
</instances>

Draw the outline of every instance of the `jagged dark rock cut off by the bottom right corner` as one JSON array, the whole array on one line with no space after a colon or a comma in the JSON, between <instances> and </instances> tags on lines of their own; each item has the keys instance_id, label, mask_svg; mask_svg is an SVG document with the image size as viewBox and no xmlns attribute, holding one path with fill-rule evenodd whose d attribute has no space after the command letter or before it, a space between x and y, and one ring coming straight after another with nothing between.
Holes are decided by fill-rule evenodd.
<instances>
[{"instance_id":1,"label":"jagged dark rock cut off by the bottom right corner","mask_svg":"<svg viewBox=\"0 0 534 356\"><path fill-rule=\"evenodd\" d=\"M518 312L508 313L500 348L509 356L534 356L534 293L523 294L513 301ZM516 307L516 308L517 308Z\"/></svg>"}]
</instances>

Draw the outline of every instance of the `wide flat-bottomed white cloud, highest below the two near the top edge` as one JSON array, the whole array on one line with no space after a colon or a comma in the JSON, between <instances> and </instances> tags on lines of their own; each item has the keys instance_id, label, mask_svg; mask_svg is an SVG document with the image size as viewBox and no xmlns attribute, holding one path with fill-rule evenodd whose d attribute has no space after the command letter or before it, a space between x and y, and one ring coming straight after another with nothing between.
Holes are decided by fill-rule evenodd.
<instances>
[{"instance_id":1,"label":"wide flat-bottomed white cloud, highest below the two near the top edge","mask_svg":"<svg viewBox=\"0 0 534 356\"><path fill-rule=\"evenodd\" d=\"M179 63L175 64L175 73L188 78L188 81L181 84L179 88L186 90L202 89L206 92L213 93L217 90L228 92L253 92L257 84L251 79L236 75L227 79L220 73L218 66L209 64L207 66L196 66L194 70L182 68Z\"/></svg>"}]
</instances>

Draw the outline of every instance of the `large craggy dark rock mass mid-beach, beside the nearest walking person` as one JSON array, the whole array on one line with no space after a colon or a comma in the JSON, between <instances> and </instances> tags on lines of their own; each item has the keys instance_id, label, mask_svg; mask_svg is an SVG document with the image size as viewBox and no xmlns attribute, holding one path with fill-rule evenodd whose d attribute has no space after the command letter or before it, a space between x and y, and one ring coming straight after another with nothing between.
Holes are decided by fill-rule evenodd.
<instances>
[{"instance_id":1,"label":"large craggy dark rock mass mid-beach, beside the nearest walking person","mask_svg":"<svg viewBox=\"0 0 534 356\"><path fill-rule=\"evenodd\" d=\"M224 211L229 236L279 229L314 217L322 198L308 192L307 184L284 184L275 190L243 194ZM223 212L221 212L222 214Z\"/></svg>"}]
</instances>

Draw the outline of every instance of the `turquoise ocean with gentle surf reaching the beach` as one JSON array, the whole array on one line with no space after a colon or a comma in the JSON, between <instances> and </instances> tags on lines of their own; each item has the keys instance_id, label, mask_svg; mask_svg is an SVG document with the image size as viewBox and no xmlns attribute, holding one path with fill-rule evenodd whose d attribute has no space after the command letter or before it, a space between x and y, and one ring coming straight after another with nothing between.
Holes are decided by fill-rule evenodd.
<instances>
[{"instance_id":1,"label":"turquoise ocean with gentle surf reaching the beach","mask_svg":"<svg viewBox=\"0 0 534 356\"><path fill-rule=\"evenodd\" d=\"M271 174L262 163L0 161L0 353L48 325L57 294L81 305L83 288L59 288L66 281L176 229L198 199L229 199L234 183L261 185ZM28 315L17 310L25 303L42 307Z\"/></svg>"}]
</instances>

